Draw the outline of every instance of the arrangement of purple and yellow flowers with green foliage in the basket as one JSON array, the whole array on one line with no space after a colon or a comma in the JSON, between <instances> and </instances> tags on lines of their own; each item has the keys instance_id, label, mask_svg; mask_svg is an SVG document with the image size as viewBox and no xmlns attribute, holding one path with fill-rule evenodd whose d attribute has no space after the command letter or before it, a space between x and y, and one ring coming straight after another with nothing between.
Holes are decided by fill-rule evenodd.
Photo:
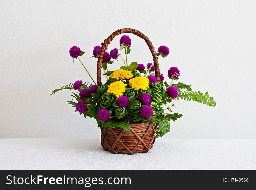
<instances>
[{"instance_id":1,"label":"arrangement of purple and yellow flowers with green foliage in the basket","mask_svg":"<svg viewBox=\"0 0 256 190\"><path fill-rule=\"evenodd\" d=\"M123 49L125 59L120 54ZM98 58L100 50L101 46L95 46L91 58ZM71 95L76 102L67 101L67 103L75 107L75 112L79 112L80 115L95 118L98 126L102 128L120 127L127 131L131 129L129 123L159 122L156 137L162 137L170 131L170 120L176 121L182 117L180 113L173 113L174 100L193 100L216 106L216 102L208 92L203 94L200 91L193 91L191 85L174 83L179 80L180 76L177 67L170 67L167 73L160 74L158 81L154 76L154 62L129 63L127 55L130 52L131 39L123 35L120 37L120 48L114 48L110 53L103 54L102 68L106 83L98 86L80 59L85 52L77 46L71 47L69 53L73 61L78 59L81 62L94 84L89 85L89 83L77 80L55 89L51 94L63 89L76 90L77 93L73 92ZM158 58L166 58L169 53L169 48L164 45L157 50ZM123 65L114 71L109 71L108 65L118 61L121 61ZM165 77L167 81L164 81Z\"/></svg>"}]
</instances>

